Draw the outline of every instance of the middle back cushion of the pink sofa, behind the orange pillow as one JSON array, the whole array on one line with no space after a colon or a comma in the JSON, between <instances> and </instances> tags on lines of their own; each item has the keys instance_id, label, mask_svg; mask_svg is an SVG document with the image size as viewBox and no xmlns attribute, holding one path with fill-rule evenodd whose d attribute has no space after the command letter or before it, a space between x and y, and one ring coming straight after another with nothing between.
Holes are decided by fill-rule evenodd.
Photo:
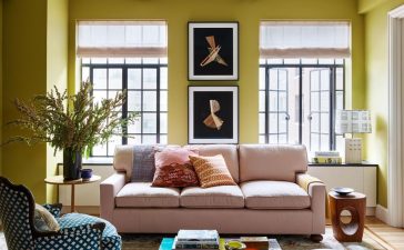
<instances>
[{"instance_id":1,"label":"middle back cushion of the pink sofa, behind the orange pillow","mask_svg":"<svg viewBox=\"0 0 404 250\"><path fill-rule=\"evenodd\" d=\"M233 180L239 183L239 153L235 144L192 144L186 148L198 150L200 156L222 154Z\"/></svg>"}]
</instances>

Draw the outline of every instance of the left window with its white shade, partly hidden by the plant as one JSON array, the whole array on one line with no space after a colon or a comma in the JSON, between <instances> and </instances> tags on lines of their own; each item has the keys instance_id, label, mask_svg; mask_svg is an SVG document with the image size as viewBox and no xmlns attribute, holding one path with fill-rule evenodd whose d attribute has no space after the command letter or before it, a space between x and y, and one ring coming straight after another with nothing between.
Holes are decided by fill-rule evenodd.
<instances>
[{"instance_id":1,"label":"left window with its white shade, partly hidden by the plant","mask_svg":"<svg viewBox=\"0 0 404 250\"><path fill-rule=\"evenodd\" d=\"M117 112L138 112L129 137L113 137L95 146L92 157L112 157L117 144L168 143L166 27L161 22L79 23L81 80L90 80L95 101L124 90L127 101Z\"/></svg>"}]
</instances>

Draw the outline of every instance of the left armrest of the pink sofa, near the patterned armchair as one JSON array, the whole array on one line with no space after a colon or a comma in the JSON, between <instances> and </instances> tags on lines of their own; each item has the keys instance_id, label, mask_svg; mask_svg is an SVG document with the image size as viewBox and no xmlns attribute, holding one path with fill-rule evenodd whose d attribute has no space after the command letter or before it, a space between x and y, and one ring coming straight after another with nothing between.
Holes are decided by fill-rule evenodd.
<instances>
[{"instance_id":1,"label":"left armrest of the pink sofa, near the patterned armchair","mask_svg":"<svg viewBox=\"0 0 404 250\"><path fill-rule=\"evenodd\" d=\"M100 184L100 210L101 218L112 221L113 209L115 208L117 193L125 184L125 173L117 172Z\"/></svg>"}]
</instances>

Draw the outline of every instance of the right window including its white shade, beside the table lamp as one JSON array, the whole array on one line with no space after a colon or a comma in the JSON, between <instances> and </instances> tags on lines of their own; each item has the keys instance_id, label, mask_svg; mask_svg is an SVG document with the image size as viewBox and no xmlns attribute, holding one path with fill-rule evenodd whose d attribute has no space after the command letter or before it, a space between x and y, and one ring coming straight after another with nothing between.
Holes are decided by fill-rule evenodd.
<instances>
[{"instance_id":1,"label":"right window including its white shade, beside the table lamp","mask_svg":"<svg viewBox=\"0 0 404 250\"><path fill-rule=\"evenodd\" d=\"M261 26L260 143L301 143L309 151L342 146L343 134L336 134L334 128L335 110L344 109L345 101L344 58L350 49L344 42L349 32L343 28L349 26L334 24ZM315 44L305 41L306 37Z\"/></svg>"}]
</instances>

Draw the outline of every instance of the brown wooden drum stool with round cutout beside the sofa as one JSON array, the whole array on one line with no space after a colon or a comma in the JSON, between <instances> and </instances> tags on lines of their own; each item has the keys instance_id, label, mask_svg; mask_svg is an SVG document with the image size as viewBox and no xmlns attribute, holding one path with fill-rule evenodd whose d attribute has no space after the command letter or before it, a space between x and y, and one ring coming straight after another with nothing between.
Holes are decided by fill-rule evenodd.
<instances>
[{"instance_id":1,"label":"brown wooden drum stool with round cutout beside the sofa","mask_svg":"<svg viewBox=\"0 0 404 250\"><path fill-rule=\"evenodd\" d=\"M329 207L335 239L342 242L362 241L365 226L366 196L358 192L340 196L331 191L329 192ZM344 210L351 212L349 223L341 221L341 213Z\"/></svg>"}]
</instances>

